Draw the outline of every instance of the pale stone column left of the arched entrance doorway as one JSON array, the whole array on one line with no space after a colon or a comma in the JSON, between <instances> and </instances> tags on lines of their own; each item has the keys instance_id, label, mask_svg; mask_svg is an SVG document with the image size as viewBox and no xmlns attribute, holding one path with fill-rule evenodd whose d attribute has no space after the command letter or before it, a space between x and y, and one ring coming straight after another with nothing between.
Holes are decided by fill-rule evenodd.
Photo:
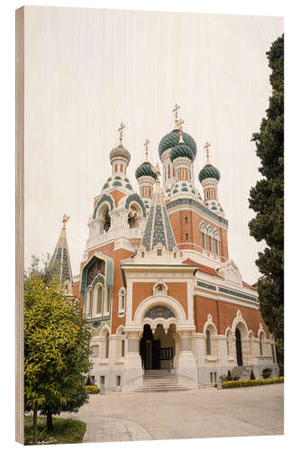
<instances>
[{"instance_id":1,"label":"pale stone column left of the arched entrance doorway","mask_svg":"<svg viewBox=\"0 0 300 451\"><path fill-rule=\"evenodd\" d=\"M123 391L131 391L142 383L140 340L142 331L126 330L127 354L123 366Z\"/></svg>"}]
</instances>

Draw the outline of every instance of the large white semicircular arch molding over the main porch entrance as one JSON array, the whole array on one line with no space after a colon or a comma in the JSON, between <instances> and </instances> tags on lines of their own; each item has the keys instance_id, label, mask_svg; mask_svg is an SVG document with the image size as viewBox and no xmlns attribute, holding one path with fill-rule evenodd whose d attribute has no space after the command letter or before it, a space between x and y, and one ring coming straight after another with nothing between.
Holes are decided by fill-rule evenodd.
<instances>
[{"instance_id":1,"label":"large white semicircular arch molding over the main porch entrance","mask_svg":"<svg viewBox=\"0 0 300 451\"><path fill-rule=\"evenodd\" d=\"M164 295L150 296L149 298L144 299L135 311L133 318L134 324L141 325L146 313L150 310L150 308L157 306L164 306L169 308L175 315L175 318L172 318L175 323L184 323L186 321L185 309L177 301L177 299L174 299L171 296Z\"/></svg>"}]
</instances>

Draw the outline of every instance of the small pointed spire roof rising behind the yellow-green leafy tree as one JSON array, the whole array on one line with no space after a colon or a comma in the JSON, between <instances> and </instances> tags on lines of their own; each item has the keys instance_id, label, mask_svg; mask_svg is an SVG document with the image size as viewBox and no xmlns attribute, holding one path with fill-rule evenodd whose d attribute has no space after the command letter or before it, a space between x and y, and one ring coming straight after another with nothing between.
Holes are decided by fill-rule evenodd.
<instances>
[{"instance_id":1,"label":"small pointed spire roof rising behind the yellow-green leafy tree","mask_svg":"<svg viewBox=\"0 0 300 451\"><path fill-rule=\"evenodd\" d=\"M64 283L70 281L73 284L73 276L71 263L68 253L68 241L66 223L69 216L64 215L62 219L62 229L59 235L59 241L50 260L50 267L54 269L54 273L58 276L59 282Z\"/></svg>"}]
</instances>

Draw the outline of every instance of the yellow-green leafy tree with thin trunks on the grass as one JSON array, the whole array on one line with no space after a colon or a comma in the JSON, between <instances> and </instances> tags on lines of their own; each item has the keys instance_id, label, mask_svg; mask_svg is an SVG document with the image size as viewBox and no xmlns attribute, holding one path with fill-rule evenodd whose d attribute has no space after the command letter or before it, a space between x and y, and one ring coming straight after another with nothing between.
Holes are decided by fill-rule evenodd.
<instances>
[{"instance_id":1,"label":"yellow-green leafy tree with thin trunks on the grass","mask_svg":"<svg viewBox=\"0 0 300 451\"><path fill-rule=\"evenodd\" d=\"M47 263L40 270L33 257L24 281L24 403L33 410L33 443L38 411L51 429L53 414L77 411L88 400L91 337L77 303L64 297Z\"/></svg>"}]
</instances>

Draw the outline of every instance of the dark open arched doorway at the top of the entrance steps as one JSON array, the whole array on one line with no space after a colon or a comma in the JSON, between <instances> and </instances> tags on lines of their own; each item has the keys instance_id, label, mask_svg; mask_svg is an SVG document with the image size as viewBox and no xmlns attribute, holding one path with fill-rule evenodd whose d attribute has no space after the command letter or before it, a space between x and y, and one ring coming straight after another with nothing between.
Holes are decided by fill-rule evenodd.
<instances>
[{"instance_id":1,"label":"dark open arched doorway at the top of the entrance steps","mask_svg":"<svg viewBox=\"0 0 300 451\"><path fill-rule=\"evenodd\" d=\"M154 334L149 324L143 327L140 342L141 363L145 370L171 370L175 355L175 325L168 327L166 334L163 326L158 324Z\"/></svg>"}]
</instances>

